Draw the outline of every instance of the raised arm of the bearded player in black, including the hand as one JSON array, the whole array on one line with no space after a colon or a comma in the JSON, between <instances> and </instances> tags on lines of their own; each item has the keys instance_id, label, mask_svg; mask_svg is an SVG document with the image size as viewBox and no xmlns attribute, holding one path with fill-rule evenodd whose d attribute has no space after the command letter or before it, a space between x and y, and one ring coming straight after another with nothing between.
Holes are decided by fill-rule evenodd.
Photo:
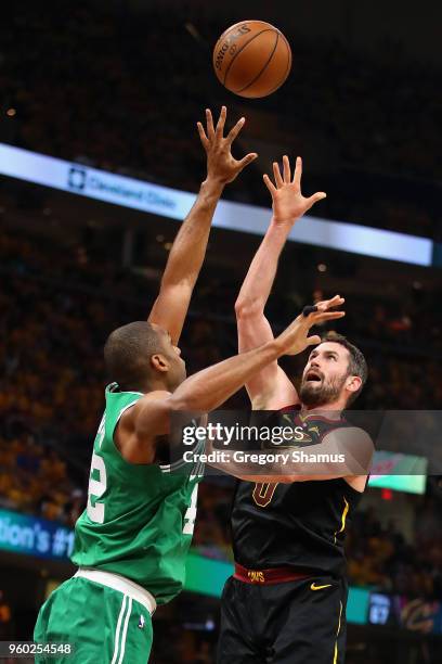
<instances>
[{"instance_id":1,"label":"raised arm of the bearded player in black, including the hand","mask_svg":"<svg viewBox=\"0 0 442 664\"><path fill-rule=\"evenodd\" d=\"M239 353L273 339L264 308L275 280L281 253L294 224L326 195L317 192L304 197L301 193L301 158L297 158L292 179L287 156L284 156L283 163L283 175L280 166L273 164L275 183L264 175L264 182L272 195L273 216L235 304ZM277 361L256 373L248 381L246 388L255 410L274 410L295 405L299 400L295 386Z\"/></svg>"}]
</instances>

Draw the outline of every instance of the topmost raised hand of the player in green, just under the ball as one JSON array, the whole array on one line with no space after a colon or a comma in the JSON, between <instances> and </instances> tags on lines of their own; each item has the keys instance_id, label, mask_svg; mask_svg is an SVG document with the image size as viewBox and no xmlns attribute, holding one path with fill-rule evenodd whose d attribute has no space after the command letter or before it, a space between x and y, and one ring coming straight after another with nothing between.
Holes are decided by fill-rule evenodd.
<instances>
[{"instance_id":1,"label":"topmost raised hand of the player in green, just under the ball","mask_svg":"<svg viewBox=\"0 0 442 664\"><path fill-rule=\"evenodd\" d=\"M197 123L199 138L207 154L207 178L213 179L221 184L232 182L243 168L258 157L256 152L247 154L242 159L235 159L232 156L232 143L243 129L246 120L242 117L227 136L224 137L226 116L227 110L225 106L222 106L220 117L214 127L211 111L206 108L206 129L202 123Z\"/></svg>"}]
</instances>

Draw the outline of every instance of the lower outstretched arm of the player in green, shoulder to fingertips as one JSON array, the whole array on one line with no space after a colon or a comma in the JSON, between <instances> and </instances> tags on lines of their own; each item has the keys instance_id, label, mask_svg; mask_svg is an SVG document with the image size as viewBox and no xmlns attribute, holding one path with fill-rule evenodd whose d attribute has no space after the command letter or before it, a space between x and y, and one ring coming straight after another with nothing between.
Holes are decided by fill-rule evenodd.
<instances>
[{"instance_id":1,"label":"lower outstretched arm of the player in green, shoulder to fingertips","mask_svg":"<svg viewBox=\"0 0 442 664\"><path fill-rule=\"evenodd\" d=\"M343 311L329 309L328 303L324 303L309 316L301 314L276 339L198 371L181 383L173 394L157 391L141 398L121 418L121 430L126 430L119 433L122 456L131 462L152 463L157 438L170 433L172 412L213 410L243 387L253 373L282 355L297 355L317 344L321 341L318 336L308 336L310 328L344 316Z\"/></svg>"}]
</instances>

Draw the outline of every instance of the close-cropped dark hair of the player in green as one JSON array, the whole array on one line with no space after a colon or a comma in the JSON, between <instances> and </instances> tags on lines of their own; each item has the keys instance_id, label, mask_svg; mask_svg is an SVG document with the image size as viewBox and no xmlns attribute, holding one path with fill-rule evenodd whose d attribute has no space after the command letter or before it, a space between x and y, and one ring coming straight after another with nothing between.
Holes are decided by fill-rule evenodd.
<instances>
[{"instance_id":1,"label":"close-cropped dark hair of the player in green","mask_svg":"<svg viewBox=\"0 0 442 664\"><path fill-rule=\"evenodd\" d=\"M121 390L144 386L152 372L150 359L161 352L160 335L147 321L117 328L104 346L108 379L118 383Z\"/></svg>"}]
</instances>

